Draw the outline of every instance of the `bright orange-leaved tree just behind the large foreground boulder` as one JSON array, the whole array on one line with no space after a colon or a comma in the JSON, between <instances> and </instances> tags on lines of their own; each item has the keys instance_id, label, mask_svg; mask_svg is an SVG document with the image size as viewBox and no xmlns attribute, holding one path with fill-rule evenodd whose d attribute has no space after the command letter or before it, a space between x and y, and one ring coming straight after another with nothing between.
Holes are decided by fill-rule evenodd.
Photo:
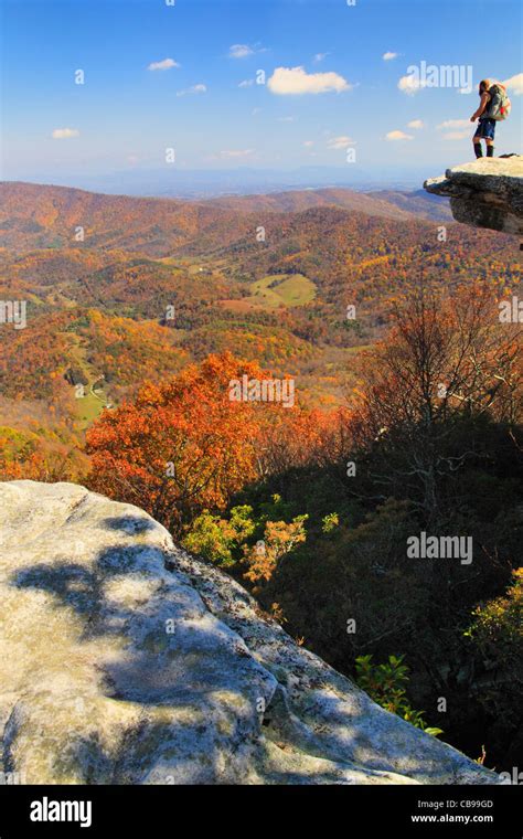
<instances>
[{"instance_id":1,"label":"bright orange-leaved tree just behind the large foreground boulder","mask_svg":"<svg viewBox=\"0 0 523 839\"><path fill-rule=\"evenodd\" d=\"M224 509L275 459L269 428L298 422L297 407L232 401L230 382L244 374L270 378L231 353L210 355L170 381L145 384L134 403L104 412L87 434L89 486L143 507L175 534L202 510ZM281 457L291 465L292 453Z\"/></svg>"}]
</instances>

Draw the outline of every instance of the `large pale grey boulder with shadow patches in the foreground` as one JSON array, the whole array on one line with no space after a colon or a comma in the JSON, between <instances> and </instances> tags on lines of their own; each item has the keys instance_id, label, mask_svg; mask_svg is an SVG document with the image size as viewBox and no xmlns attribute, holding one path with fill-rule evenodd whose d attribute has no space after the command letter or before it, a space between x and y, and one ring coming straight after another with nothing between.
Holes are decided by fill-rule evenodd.
<instances>
[{"instance_id":1,"label":"large pale grey boulder with shadow patches in the foreground","mask_svg":"<svg viewBox=\"0 0 523 839\"><path fill-rule=\"evenodd\" d=\"M0 484L0 771L28 784L492 784L142 510Z\"/></svg>"}]
</instances>

